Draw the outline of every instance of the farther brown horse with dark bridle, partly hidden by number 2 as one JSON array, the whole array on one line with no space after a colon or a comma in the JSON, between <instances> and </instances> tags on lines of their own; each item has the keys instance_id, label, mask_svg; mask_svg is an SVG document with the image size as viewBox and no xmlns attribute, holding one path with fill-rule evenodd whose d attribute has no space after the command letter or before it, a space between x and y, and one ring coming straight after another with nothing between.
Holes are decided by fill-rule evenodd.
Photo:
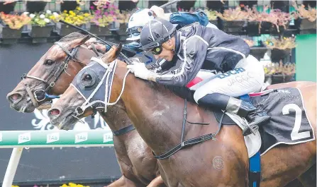
<instances>
[{"instance_id":1,"label":"farther brown horse with dark bridle, partly hidden by number 2","mask_svg":"<svg viewBox=\"0 0 317 187\"><path fill-rule=\"evenodd\" d=\"M35 90L45 90L47 87L47 83L45 82L50 83L54 80L54 78L50 80L48 80L48 78L56 74L56 72L59 71L59 67L64 66L63 63L67 61L68 56L65 50L70 52L72 49L78 47L79 49L77 53L74 54L74 58L68 61L66 72L63 71L55 81L55 85L48 90L50 95L61 95L65 92L74 76L76 76L84 66L87 66L92 56L96 57L94 52L82 45L87 39L86 35L74 32L59 41L62 46L65 46L65 49L62 49L57 44L50 47L48 52L46 52L38 63L28 72L28 76L30 77L23 78L16 88L8 94L7 98L11 103L11 108L17 111L32 112L36 105L43 104L50 99L46 98L41 102L35 103L35 105L29 98L35 97L33 95ZM114 57L114 52L116 51L112 50L109 53L113 54L112 56ZM48 64L48 60L53 63ZM28 85L30 94L26 90L25 85ZM86 114L88 116L92 114L92 112ZM131 124L126 112L120 107L112 107L107 114L101 114L101 116L108 123L112 131L117 131ZM158 176L157 160L153 157L150 148L145 144L142 138L140 138L137 131L130 131L123 135L114 135L113 145L123 176L111 183L110 186L147 186L152 179ZM152 182L157 185L157 183L162 183L162 180ZM162 186L165 186L164 183Z\"/></svg>"}]
</instances>

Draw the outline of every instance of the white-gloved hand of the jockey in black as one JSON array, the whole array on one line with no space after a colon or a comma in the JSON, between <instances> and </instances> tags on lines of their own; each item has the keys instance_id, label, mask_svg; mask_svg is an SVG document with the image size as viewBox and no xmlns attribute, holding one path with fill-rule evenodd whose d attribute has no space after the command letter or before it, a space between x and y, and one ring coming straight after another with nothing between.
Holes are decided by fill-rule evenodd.
<instances>
[{"instance_id":1,"label":"white-gloved hand of the jockey in black","mask_svg":"<svg viewBox=\"0 0 317 187\"><path fill-rule=\"evenodd\" d=\"M155 73L148 70L144 63L135 63L133 65L128 65L127 68L130 69L132 73L134 73L135 77L155 81Z\"/></svg>"}]
</instances>

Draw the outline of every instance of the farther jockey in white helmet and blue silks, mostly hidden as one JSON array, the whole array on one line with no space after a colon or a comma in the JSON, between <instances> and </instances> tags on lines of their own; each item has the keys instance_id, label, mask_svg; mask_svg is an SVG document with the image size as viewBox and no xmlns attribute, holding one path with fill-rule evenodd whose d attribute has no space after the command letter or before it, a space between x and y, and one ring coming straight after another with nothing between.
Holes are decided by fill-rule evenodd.
<instances>
[{"instance_id":1,"label":"farther jockey in white helmet and blue silks, mostly hidden","mask_svg":"<svg viewBox=\"0 0 317 187\"><path fill-rule=\"evenodd\" d=\"M148 23L150 20L153 20L154 16L149 16L148 12L153 11L160 16L165 16L166 19L168 19L171 23L177 24L177 28L182 28L185 25L189 25L191 23L199 22L201 25L211 27L211 28L217 28L216 25L213 25L208 22L208 17L204 11L195 11L194 13L186 13L186 12L176 12L176 13L164 13L163 8L160 8L158 6L152 6L149 8L143 8L138 9L138 11L135 11L132 16L130 16L129 22L128 22L128 29L126 30L128 38L126 40L133 41L128 44L124 44L125 47L132 49L136 53L143 52L142 49L140 49L140 32L143 28L143 26ZM155 15L156 16L156 15ZM217 28L218 29L218 28ZM89 39L86 44L89 46L92 42L96 42L96 38ZM101 52L107 52L111 47L109 45L104 44L96 44L96 49L101 50ZM91 48L91 46L89 46ZM126 52L123 49L123 54L125 54L128 57L133 57L135 54ZM161 62L162 63L162 62Z\"/></svg>"}]
</instances>

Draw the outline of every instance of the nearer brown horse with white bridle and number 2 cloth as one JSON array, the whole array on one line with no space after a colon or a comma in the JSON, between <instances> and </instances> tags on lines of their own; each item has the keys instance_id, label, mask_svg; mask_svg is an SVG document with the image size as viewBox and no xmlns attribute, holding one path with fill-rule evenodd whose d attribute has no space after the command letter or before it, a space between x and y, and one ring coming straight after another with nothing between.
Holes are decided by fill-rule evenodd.
<instances>
[{"instance_id":1,"label":"nearer brown horse with white bridle and number 2 cloth","mask_svg":"<svg viewBox=\"0 0 317 187\"><path fill-rule=\"evenodd\" d=\"M113 59L112 56L103 58L111 66L107 69L114 70L109 102L113 103L121 98L120 107L127 112L138 133L155 155L162 155L178 145L184 120L184 99L162 85L135 78L128 73L126 64L122 61L109 64L109 58ZM96 80L96 77L89 74L88 68L79 74L81 76L74 78L79 84L89 85ZM95 84L98 81L100 80L96 80ZM271 88L299 88L308 119L316 128L316 83L293 82L272 85L269 89ZM83 92L70 86L48 111L53 125L62 129L68 129L72 125L74 120L69 114L76 114L77 107L86 102L79 91ZM184 140L218 130L213 112L191 102L187 105L187 120L209 125L187 125ZM316 135L316 129L313 133ZM305 177L302 176L316 164L316 140L297 145L278 145L261 157L261 164L262 187L285 186L296 178L304 181ZM162 179L171 187L248 186L248 153L238 126L222 126L216 140L186 147L167 159L160 159L159 166ZM309 185L312 184L308 183L307 186Z\"/></svg>"}]
</instances>

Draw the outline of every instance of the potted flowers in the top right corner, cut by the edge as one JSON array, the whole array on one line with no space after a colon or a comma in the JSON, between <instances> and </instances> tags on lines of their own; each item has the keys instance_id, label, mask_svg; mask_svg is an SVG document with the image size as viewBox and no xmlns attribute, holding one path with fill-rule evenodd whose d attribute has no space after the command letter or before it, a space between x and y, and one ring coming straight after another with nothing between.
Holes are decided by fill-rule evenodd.
<instances>
[{"instance_id":1,"label":"potted flowers in the top right corner, cut by the edge","mask_svg":"<svg viewBox=\"0 0 317 187\"><path fill-rule=\"evenodd\" d=\"M305 8L304 4L297 6L293 3L296 12L294 13L295 24L301 30L301 34L316 33L316 8Z\"/></svg>"}]
</instances>

